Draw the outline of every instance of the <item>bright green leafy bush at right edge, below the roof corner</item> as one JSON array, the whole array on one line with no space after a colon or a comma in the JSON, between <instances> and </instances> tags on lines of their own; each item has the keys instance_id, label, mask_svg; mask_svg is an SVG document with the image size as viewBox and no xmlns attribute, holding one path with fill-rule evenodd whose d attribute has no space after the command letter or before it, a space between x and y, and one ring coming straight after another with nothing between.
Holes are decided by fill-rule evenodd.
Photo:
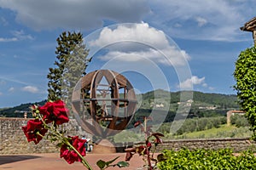
<instances>
[{"instance_id":1,"label":"bright green leafy bush at right edge, below the roof corner","mask_svg":"<svg viewBox=\"0 0 256 170\"><path fill-rule=\"evenodd\" d=\"M256 47L242 51L236 60L234 77L239 104L246 111L248 122L256 140Z\"/></svg>"}]
</instances>

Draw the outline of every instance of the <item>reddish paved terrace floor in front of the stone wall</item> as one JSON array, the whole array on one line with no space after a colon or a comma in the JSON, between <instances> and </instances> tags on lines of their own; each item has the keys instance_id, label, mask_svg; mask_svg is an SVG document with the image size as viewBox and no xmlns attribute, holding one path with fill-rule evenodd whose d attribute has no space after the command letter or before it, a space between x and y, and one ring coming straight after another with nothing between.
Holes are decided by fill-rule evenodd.
<instances>
[{"instance_id":1,"label":"reddish paved terrace floor in front of the stone wall","mask_svg":"<svg viewBox=\"0 0 256 170\"><path fill-rule=\"evenodd\" d=\"M116 161L125 161L125 153L116 154L87 154L86 160L89 161L93 169L99 169L96 161L110 161L116 156L120 156ZM109 167L109 170L137 170L142 169L142 156L134 155L129 161L129 167ZM0 155L0 169L4 170L82 170L86 169L80 162L69 165L67 161L60 158L58 153L50 154L27 154L27 155Z\"/></svg>"}]
</instances>

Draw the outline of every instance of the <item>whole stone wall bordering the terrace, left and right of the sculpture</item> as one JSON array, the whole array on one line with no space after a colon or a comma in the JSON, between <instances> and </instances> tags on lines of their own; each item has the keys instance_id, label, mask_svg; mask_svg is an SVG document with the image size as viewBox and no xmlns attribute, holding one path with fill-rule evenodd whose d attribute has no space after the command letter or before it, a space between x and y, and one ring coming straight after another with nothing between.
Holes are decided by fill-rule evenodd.
<instances>
[{"instance_id":1,"label":"whole stone wall bordering the terrace, left and right of the sculpture","mask_svg":"<svg viewBox=\"0 0 256 170\"><path fill-rule=\"evenodd\" d=\"M55 144L42 140L39 144L28 143L21 127L26 125L29 119L24 118L4 118L0 117L0 155L4 154L28 154L28 153L51 153L59 152ZM67 134L74 136L86 134L78 123L71 119L65 123ZM90 138L91 139L91 138ZM135 145L140 145L137 143ZM119 144L118 151L131 147L131 143ZM256 152L256 143L249 139L178 139L164 141L156 151L164 149L179 150L182 147L189 149L205 148L217 150L219 148L231 148L234 151L253 150Z\"/></svg>"}]
</instances>

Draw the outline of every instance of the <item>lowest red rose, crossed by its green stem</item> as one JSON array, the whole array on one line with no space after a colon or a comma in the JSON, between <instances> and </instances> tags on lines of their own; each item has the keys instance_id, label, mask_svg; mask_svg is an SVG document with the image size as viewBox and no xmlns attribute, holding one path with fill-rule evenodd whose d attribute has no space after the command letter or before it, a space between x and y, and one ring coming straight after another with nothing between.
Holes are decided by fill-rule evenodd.
<instances>
[{"instance_id":1,"label":"lowest red rose, crossed by its green stem","mask_svg":"<svg viewBox=\"0 0 256 170\"><path fill-rule=\"evenodd\" d=\"M79 139L78 136L71 137L72 139L69 140L70 144L79 151L81 156L85 156L85 147L84 143L86 142L85 139ZM61 146L61 157L63 157L69 164L73 163L74 161L82 161L79 155L68 147L67 144L62 144Z\"/></svg>"}]
</instances>

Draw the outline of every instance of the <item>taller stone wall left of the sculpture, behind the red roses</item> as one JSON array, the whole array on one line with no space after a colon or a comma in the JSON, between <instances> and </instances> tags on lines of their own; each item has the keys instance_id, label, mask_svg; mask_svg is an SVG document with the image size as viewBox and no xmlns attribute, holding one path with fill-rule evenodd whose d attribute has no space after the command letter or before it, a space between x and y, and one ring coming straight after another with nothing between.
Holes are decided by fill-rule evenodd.
<instances>
[{"instance_id":1,"label":"taller stone wall left of the sculpture, behind the red roses","mask_svg":"<svg viewBox=\"0 0 256 170\"><path fill-rule=\"evenodd\" d=\"M28 143L21 127L26 126L30 119L0 117L0 155L2 154L27 154L58 152L55 144L48 140L41 140L38 144ZM86 134L75 120L65 123L67 134L74 136Z\"/></svg>"}]
</instances>

